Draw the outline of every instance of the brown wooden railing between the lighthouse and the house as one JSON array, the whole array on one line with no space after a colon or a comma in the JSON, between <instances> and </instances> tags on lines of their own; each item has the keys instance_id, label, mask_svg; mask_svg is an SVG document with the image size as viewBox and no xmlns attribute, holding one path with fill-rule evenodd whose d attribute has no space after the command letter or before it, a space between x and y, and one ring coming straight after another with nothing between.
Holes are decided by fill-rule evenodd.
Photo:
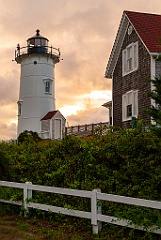
<instances>
[{"instance_id":1,"label":"brown wooden railing between the lighthouse and the house","mask_svg":"<svg viewBox=\"0 0 161 240\"><path fill-rule=\"evenodd\" d=\"M84 125L77 125L65 128L65 136L67 135L93 135L96 131L99 132L100 135L106 134L108 129L109 123L108 122L100 122L100 123L92 123L92 124L84 124Z\"/></svg>"}]
</instances>

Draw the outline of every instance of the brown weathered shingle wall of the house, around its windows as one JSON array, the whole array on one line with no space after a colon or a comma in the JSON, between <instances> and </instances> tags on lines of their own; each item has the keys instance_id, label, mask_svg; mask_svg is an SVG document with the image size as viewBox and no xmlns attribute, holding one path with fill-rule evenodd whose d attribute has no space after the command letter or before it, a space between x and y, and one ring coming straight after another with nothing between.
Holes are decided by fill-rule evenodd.
<instances>
[{"instance_id":1,"label":"brown weathered shingle wall of the house, around its windows","mask_svg":"<svg viewBox=\"0 0 161 240\"><path fill-rule=\"evenodd\" d=\"M132 42L138 41L138 70L122 76L122 50L124 50ZM131 121L122 122L122 95L130 90L138 90L138 119L150 120L145 113L150 106L150 98L147 93L151 89L147 79L151 78L151 57L147 49L140 41L135 30L128 35L126 32L121 47L120 55L113 73L113 115L114 126L121 128L131 127Z\"/></svg>"}]
</instances>

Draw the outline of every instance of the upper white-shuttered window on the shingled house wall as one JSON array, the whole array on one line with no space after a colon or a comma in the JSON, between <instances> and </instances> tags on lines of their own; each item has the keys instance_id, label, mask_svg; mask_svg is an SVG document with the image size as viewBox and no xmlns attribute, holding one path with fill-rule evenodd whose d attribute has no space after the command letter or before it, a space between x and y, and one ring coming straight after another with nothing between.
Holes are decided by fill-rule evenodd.
<instances>
[{"instance_id":1,"label":"upper white-shuttered window on the shingled house wall","mask_svg":"<svg viewBox=\"0 0 161 240\"><path fill-rule=\"evenodd\" d=\"M122 51L122 75L138 69L138 42L131 43Z\"/></svg>"}]
</instances>

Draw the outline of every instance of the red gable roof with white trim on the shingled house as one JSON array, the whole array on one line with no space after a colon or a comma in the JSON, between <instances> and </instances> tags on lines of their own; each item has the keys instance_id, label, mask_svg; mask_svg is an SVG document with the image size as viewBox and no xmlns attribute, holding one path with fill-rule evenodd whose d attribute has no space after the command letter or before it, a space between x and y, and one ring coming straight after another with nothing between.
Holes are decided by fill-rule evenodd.
<instances>
[{"instance_id":1,"label":"red gable roof with white trim on the shingled house","mask_svg":"<svg viewBox=\"0 0 161 240\"><path fill-rule=\"evenodd\" d=\"M133 26L149 53L161 51L161 15L124 11L106 67L105 77L107 78L111 78L129 23Z\"/></svg>"}]
</instances>

